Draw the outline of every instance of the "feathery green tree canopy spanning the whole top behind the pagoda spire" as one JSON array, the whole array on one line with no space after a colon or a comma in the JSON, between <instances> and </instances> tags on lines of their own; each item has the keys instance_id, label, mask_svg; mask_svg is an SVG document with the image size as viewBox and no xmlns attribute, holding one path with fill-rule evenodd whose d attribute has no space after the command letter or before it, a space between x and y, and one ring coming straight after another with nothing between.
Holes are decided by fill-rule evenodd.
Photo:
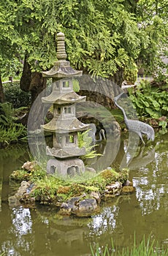
<instances>
[{"instance_id":1,"label":"feathery green tree canopy spanning the whole top behind the pagoda spire","mask_svg":"<svg viewBox=\"0 0 168 256\"><path fill-rule=\"evenodd\" d=\"M7 0L0 10L0 59L26 53L32 71L56 61L59 31L72 65L106 78L137 59L156 64L166 43L167 0Z\"/></svg>"}]
</instances>

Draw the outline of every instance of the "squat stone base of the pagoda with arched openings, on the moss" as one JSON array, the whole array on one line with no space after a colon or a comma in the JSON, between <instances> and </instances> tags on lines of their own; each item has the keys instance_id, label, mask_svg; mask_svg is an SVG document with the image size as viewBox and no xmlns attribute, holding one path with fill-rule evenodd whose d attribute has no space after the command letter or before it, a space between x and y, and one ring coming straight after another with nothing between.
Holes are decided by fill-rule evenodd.
<instances>
[{"instance_id":1,"label":"squat stone base of the pagoda with arched openings, on the moss","mask_svg":"<svg viewBox=\"0 0 168 256\"><path fill-rule=\"evenodd\" d=\"M58 176L80 175L85 172L85 165L81 159L50 159L47 162L47 174L58 174Z\"/></svg>"}]
</instances>

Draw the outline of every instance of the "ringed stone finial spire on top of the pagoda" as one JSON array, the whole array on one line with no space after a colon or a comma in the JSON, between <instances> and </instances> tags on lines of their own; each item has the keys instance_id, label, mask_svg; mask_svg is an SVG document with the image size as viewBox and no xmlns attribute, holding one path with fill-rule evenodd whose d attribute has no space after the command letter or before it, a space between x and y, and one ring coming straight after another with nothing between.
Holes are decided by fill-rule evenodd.
<instances>
[{"instance_id":1,"label":"ringed stone finial spire on top of the pagoda","mask_svg":"<svg viewBox=\"0 0 168 256\"><path fill-rule=\"evenodd\" d=\"M57 59L64 60L66 59L66 50L65 50L65 36L64 33L60 32L57 34Z\"/></svg>"}]
</instances>

